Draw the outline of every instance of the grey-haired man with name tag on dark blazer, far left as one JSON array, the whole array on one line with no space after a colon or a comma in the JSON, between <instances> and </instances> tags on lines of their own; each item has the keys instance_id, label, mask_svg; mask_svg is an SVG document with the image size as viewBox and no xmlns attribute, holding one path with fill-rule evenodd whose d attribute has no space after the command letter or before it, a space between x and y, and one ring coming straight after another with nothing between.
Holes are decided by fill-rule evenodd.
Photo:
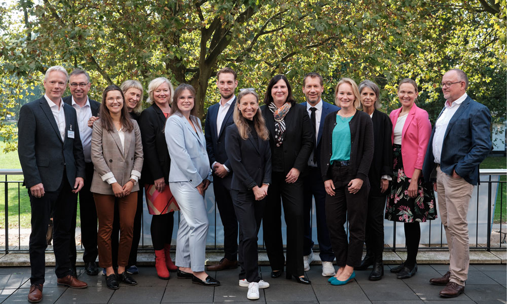
<instances>
[{"instance_id":1,"label":"grey-haired man with name tag on dark blazer, far left","mask_svg":"<svg viewBox=\"0 0 507 304\"><path fill-rule=\"evenodd\" d=\"M58 284L86 288L70 274L68 248L71 215L84 184L85 162L76 110L62 102L67 71L50 67L44 78L44 97L21 107L18 119L18 155L31 206L30 291L28 301L42 300L46 232L53 217L53 249Z\"/></svg>"}]
</instances>

